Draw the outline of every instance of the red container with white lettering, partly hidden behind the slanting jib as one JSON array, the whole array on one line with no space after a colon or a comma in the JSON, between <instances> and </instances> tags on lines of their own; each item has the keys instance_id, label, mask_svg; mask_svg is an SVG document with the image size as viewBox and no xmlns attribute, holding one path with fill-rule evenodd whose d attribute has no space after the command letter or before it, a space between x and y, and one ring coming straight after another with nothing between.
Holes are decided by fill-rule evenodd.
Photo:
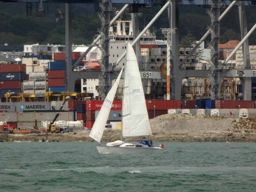
<instances>
[{"instance_id":1,"label":"red container with white lettering, partly hidden behind the slanting jib","mask_svg":"<svg viewBox=\"0 0 256 192\"><path fill-rule=\"evenodd\" d=\"M86 100L86 111L99 111L103 100ZM122 100L114 100L111 110L122 110Z\"/></svg>"}]
</instances>

